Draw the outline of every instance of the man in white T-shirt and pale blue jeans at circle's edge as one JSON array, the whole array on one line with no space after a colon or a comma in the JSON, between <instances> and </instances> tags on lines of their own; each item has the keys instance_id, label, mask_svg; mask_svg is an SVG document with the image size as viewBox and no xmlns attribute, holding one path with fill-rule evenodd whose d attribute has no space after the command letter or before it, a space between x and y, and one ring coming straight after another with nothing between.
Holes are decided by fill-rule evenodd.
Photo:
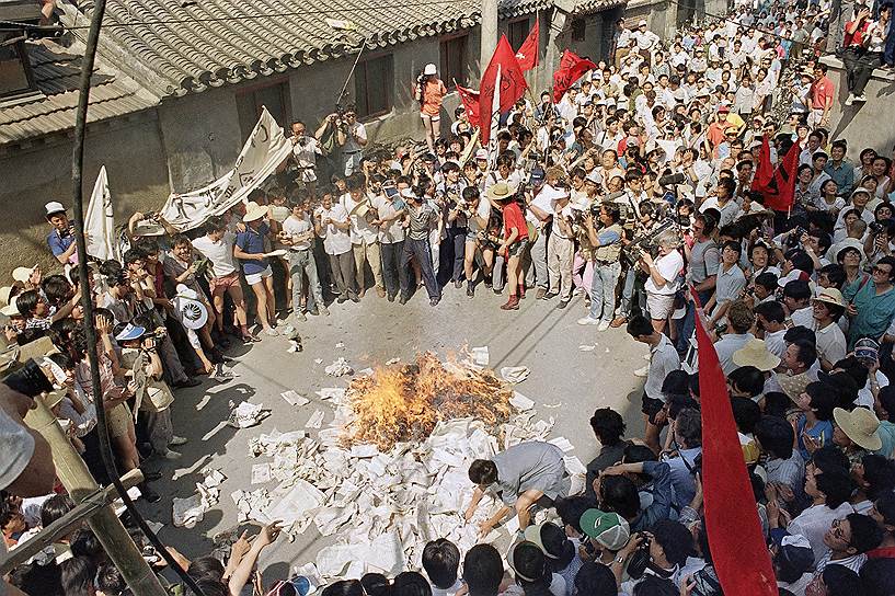
<instances>
[{"instance_id":1,"label":"man in white T-shirt and pale blue jeans at circle's edge","mask_svg":"<svg viewBox=\"0 0 895 596\"><path fill-rule=\"evenodd\" d=\"M323 289L317 274L317 264L312 254L314 231L310 216L301 202L292 204L292 213L283 221L280 242L288 249L289 275L292 278L292 317L305 321L301 309L301 295L305 288L305 276L308 276L308 303L305 310L311 314L329 314L323 301Z\"/></svg>"}]
</instances>

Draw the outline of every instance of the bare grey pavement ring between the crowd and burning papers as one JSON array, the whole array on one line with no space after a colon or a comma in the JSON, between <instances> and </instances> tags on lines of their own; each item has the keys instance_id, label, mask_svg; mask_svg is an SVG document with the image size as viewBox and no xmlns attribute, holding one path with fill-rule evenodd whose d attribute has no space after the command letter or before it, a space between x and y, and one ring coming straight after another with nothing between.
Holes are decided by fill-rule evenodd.
<instances>
[{"instance_id":1,"label":"bare grey pavement ring between the crowd and burning papers","mask_svg":"<svg viewBox=\"0 0 895 596\"><path fill-rule=\"evenodd\" d=\"M394 357L409 362L418 352L432 351L444 357L463 345L486 345L491 368L531 369L516 390L536 402L536 420L555 419L551 437L566 437L575 446L571 455L584 463L597 449L588 425L595 408L615 408L628 422L629 434L642 434L643 379L632 371L644 365L645 346L631 340L623 328L598 333L595 326L577 325L575 321L585 313L581 298L559 310L556 300L535 300L531 293L516 312L498 309L505 299L483 286L472 299L464 289L448 286L436 308L428 306L425 291L418 291L402 307L380 299L374 291L358 305L333 303L330 317L309 317L308 322L301 323L302 353L289 354L285 339L266 336L251 348L231 348L228 354L239 360L232 368L238 378L226 383L206 380L200 387L177 392L174 428L190 443L179 448L183 458L177 461L149 462L149 468L160 469L164 474L163 480L153 483L162 501L139 502L140 509L148 519L164 524L159 534L167 545L188 558L209 552L213 536L237 526L230 493L259 488L250 483L252 463L256 460L248 451L249 439L273 428L303 429L317 410L325 414L324 428L332 421L332 406L314 391L347 386L349 377L332 378L323 370L339 357L362 370ZM344 348L336 347L340 342ZM583 345L595 347L582 351ZM315 364L318 358L323 362ZM288 389L311 403L289 405L280 397ZM251 428L237 431L227 426L229 403L242 401L263 403L272 415ZM195 528L174 527L171 500L193 494L196 482L202 480L199 472L206 468L218 468L227 477L220 502ZM250 534L255 531L250 529ZM288 576L295 566L313 561L318 550L331 542L332 537L320 537L313 526L295 542L280 537L259 562L265 585Z\"/></svg>"}]
</instances>

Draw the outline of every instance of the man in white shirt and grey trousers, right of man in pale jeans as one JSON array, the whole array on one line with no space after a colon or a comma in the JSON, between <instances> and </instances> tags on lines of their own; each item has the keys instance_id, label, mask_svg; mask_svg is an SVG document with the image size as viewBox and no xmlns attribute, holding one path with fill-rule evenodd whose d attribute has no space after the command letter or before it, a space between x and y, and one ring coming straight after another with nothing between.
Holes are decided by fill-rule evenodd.
<instances>
[{"instance_id":1,"label":"man in white shirt and grey trousers, right of man in pale jeans","mask_svg":"<svg viewBox=\"0 0 895 596\"><path fill-rule=\"evenodd\" d=\"M323 250L330 259L330 270L335 282L339 303L351 299L359 302L355 291L354 253L352 252L352 237L348 231L352 222L348 211L340 203L333 200L332 193L323 195L320 207L314 214L314 231L323 239Z\"/></svg>"}]
</instances>

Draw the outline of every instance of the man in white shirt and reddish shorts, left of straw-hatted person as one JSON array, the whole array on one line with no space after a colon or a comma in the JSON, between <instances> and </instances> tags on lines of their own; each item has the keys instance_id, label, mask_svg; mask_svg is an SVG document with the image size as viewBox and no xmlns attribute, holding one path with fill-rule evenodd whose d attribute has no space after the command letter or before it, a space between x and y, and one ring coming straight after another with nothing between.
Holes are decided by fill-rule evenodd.
<instances>
[{"instance_id":1,"label":"man in white shirt and reddish shorts, left of straw-hatted person","mask_svg":"<svg viewBox=\"0 0 895 596\"><path fill-rule=\"evenodd\" d=\"M249 333L245 319L245 299L239 280L239 270L233 260L233 244L237 237L227 231L222 217L211 217L205 222L205 236L193 240L193 248L211 263L211 302L215 307L215 324L218 333L223 333L223 293L230 295L237 310L237 323L243 341L254 341Z\"/></svg>"}]
</instances>

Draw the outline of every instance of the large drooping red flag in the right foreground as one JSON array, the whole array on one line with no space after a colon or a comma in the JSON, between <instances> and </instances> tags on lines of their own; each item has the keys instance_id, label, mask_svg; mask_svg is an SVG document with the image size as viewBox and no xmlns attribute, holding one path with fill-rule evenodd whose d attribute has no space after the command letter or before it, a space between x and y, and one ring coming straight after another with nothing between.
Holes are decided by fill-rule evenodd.
<instances>
[{"instance_id":1,"label":"large drooping red flag in the right foreground","mask_svg":"<svg viewBox=\"0 0 895 596\"><path fill-rule=\"evenodd\" d=\"M714 569L724 594L777 596L777 581L751 496L724 374L699 316L696 336L702 410L700 478Z\"/></svg>"}]
</instances>

